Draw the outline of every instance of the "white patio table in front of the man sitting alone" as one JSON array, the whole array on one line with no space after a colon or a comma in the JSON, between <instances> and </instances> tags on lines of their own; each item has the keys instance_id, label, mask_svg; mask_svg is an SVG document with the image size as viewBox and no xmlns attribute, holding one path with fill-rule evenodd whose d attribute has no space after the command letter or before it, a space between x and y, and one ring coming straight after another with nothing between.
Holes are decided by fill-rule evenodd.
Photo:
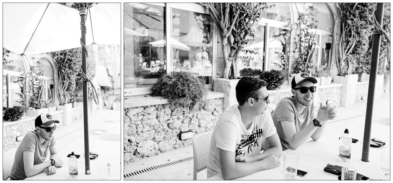
<instances>
[{"instance_id":1,"label":"white patio table in front of the man sitting alone","mask_svg":"<svg viewBox=\"0 0 393 183\"><path fill-rule=\"evenodd\" d=\"M84 140L75 139L72 144L64 148L59 153L59 158L64 162L64 166L56 167L56 173L47 176L46 169L41 173L27 177L25 180L99 180L99 166L107 166L110 163L111 174L107 174L107 180L121 180L121 142L109 140L90 139L90 152L98 153L98 157L90 159L90 174L84 173ZM68 154L74 152L81 155L78 160L78 177L71 178L68 170Z\"/></svg>"}]
</instances>

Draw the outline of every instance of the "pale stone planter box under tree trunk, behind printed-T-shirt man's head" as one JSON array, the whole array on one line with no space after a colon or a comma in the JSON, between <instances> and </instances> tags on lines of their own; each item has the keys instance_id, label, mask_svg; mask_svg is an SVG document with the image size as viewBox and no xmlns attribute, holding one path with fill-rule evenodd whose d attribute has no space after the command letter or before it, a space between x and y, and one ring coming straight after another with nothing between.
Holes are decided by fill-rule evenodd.
<instances>
[{"instance_id":1,"label":"pale stone planter box under tree trunk, behind printed-T-shirt man's head","mask_svg":"<svg viewBox=\"0 0 393 183\"><path fill-rule=\"evenodd\" d=\"M231 105L237 104L236 100L236 85L240 79L214 79L213 81L213 90L224 92L224 100L223 100L223 109L225 110L227 107Z\"/></svg>"}]
</instances>

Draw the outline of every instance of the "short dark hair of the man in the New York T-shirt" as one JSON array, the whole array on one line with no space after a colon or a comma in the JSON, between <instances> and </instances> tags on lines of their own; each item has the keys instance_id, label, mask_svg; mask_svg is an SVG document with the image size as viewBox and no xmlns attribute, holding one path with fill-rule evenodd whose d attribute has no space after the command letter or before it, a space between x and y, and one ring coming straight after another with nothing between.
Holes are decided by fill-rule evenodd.
<instances>
[{"instance_id":1,"label":"short dark hair of the man in the New York T-shirt","mask_svg":"<svg viewBox=\"0 0 393 183\"><path fill-rule=\"evenodd\" d=\"M236 100L243 105L248 98L258 98L257 90L266 87L266 81L251 76L243 76L236 85ZM255 99L258 101L258 99Z\"/></svg>"}]
</instances>

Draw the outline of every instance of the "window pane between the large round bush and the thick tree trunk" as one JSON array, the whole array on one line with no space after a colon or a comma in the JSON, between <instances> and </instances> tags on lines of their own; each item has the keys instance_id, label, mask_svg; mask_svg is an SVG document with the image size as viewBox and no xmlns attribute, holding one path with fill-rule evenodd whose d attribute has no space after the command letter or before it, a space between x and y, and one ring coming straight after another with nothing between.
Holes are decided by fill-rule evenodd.
<instances>
[{"instance_id":1,"label":"window pane between the large round bush and the thick tree trunk","mask_svg":"<svg viewBox=\"0 0 393 183\"><path fill-rule=\"evenodd\" d=\"M211 84L213 67L209 53L210 36L209 15L173 8L173 71L186 70L198 73L206 78L206 84Z\"/></svg>"}]
</instances>

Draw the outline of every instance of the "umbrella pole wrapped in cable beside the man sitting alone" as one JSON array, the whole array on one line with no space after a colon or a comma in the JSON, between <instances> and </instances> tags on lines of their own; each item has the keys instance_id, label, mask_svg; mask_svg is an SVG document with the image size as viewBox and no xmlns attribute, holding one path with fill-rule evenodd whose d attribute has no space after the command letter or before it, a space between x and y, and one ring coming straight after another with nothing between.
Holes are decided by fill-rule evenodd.
<instances>
[{"instance_id":1,"label":"umbrella pole wrapped in cable beside the man sitting alone","mask_svg":"<svg viewBox=\"0 0 393 183\"><path fill-rule=\"evenodd\" d=\"M81 44L82 44L82 70L87 75L87 48L86 48L86 15L88 3L79 3L78 10L81 16ZM90 174L90 151L89 151L89 128L88 128L88 106L87 106L87 81L83 79L83 125L84 125L84 170Z\"/></svg>"}]
</instances>

